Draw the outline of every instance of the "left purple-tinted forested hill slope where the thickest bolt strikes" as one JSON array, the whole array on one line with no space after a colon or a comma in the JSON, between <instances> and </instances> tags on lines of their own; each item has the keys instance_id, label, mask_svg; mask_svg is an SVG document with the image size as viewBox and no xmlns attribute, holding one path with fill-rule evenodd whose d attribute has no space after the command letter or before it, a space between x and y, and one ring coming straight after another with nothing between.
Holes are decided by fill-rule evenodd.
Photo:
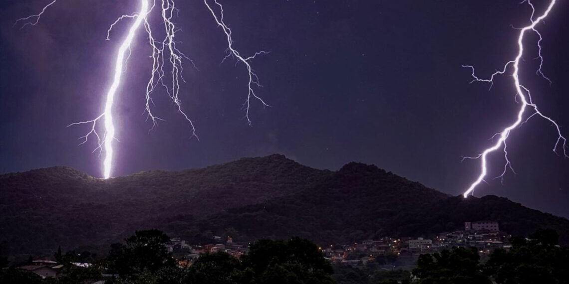
<instances>
[{"instance_id":1,"label":"left purple-tinted forested hill slope where the thickest bolt strikes","mask_svg":"<svg viewBox=\"0 0 569 284\"><path fill-rule=\"evenodd\" d=\"M306 189L331 172L282 155L102 180L65 167L0 176L0 242L11 253L119 241L149 218L196 218Z\"/></svg>"}]
</instances>

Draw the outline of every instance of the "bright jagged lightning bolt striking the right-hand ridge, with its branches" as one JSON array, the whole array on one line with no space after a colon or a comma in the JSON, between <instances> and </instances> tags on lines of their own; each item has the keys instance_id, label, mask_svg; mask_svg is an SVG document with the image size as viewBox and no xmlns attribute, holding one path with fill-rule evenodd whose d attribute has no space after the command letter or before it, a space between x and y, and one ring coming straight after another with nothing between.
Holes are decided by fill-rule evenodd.
<instances>
[{"instance_id":1,"label":"bright jagged lightning bolt striking the right-hand ridge, with its branches","mask_svg":"<svg viewBox=\"0 0 569 284\"><path fill-rule=\"evenodd\" d=\"M502 174L500 176L498 176L499 178L504 177L504 174L506 173L508 168L512 169L512 164L508 158L508 150L507 150L506 140L508 140L510 133L515 128L521 126L523 123L526 123L529 119L533 118L534 116L540 116L541 118L548 120L552 124L552 126L555 127L555 129L558 133L558 137L557 137L557 141L555 142L555 145L553 147L553 152L558 153L558 148L561 145L561 148L563 149L563 151L562 151L563 156L568 157L567 153L566 153L567 139L565 139L565 137L563 137L559 125L553 119L551 119L549 116L546 116L541 111L539 111L538 106L531 100L530 90L522 85L522 83L519 81L519 75L518 75L519 74L519 61L522 59L522 55L523 55L523 37L526 35L526 32L533 31L533 32L535 32L535 34L537 34L539 36L539 40L537 42L537 45L538 45L538 57L537 57L537 59L539 59L540 62L539 62L539 69L537 70L536 73L551 83L551 80L549 80L549 78L547 78L541 70L542 65L543 65L543 57L541 55L542 36L539 33L539 31L536 30L535 27L539 23L543 22L543 19L545 19L547 17L547 15L549 15L549 13L551 12L551 10L553 9L553 7L555 5L556 0L552 0L549 3L549 6L547 6L547 9L545 10L545 12L543 12L543 14L538 16L535 20L534 20L535 7L533 6L533 4L531 3L530 0L522 1L522 3L524 3L524 2L526 2L531 7L531 11L532 11L531 16L530 16L530 22L531 23L528 26L519 29L519 35L518 35L518 41L517 41L517 43L518 43L518 54L515 57L515 59L506 62L506 64L504 65L504 68L502 70L499 70L499 71L493 73L492 76L490 76L487 79L477 77L475 69L473 66L463 65L463 68L472 69L473 80L471 81L471 83L472 82L489 82L490 87L492 87L492 83L494 82L493 81L494 77L499 76L501 74L505 74L506 72L508 72L508 68L510 66L512 66L513 67L512 78L513 78L514 86L516 87L516 98L519 98L520 103L521 103L521 106L519 107L519 110L517 113L516 120L512 124L510 124L510 126L504 128L501 132L496 133L492 137L492 138L494 138L496 136L499 137L498 140L496 141L496 143L494 143L492 145L492 147L486 148L484 150L484 152L482 152L478 156L463 157L463 160L465 158L470 158L470 159L480 158L481 159L481 165L480 165L481 166L481 172L480 172L479 176L476 178L476 180L474 182L472 182L472 184L464 192L464 194L463 194L464 198L467 198L469 194L473 193L476 186L478 186L481 182L484 181L484 177L486 177L486 174L488 173L488 169L487 169L487 165L486 165L486 157L488 156L488 154L490 154L494 151L497 151L500 148L502 148L502 151L504 152L504 158L505 158L506 162L504 165L504 171L502 172ZM527 114L526 114L526 112L527 112ZM526 119L524 119L525 116L527 116ZM512 169L512 171L513 171L513 169Z\"/></svg>"}]
</instances>

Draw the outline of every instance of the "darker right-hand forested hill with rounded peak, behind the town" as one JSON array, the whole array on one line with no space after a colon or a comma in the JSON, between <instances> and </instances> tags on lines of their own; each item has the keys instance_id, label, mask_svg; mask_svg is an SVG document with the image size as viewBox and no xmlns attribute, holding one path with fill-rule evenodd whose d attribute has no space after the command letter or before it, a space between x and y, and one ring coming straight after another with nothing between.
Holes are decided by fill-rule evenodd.
<instances>
[{"instance_id":1,"label":"darker right-hand forested hill with rounded peak, behind the town","mask_svg":"<svg viewBox=\"0 0 569 284\"><path fill-rule=\"evenodd\" d=\"M502 230L515 235L553 228L560 241L569 243L567 219L493 195L451 197L376 166L357 163L345 165L303 192L233 208L188 222L186 227L217 234L233 227L237 231L233 235L242 240L298 235L333 244L383 236L426 236L461 229L464 222L477 220L496 220Z\"/></svg>"}]
</instances>

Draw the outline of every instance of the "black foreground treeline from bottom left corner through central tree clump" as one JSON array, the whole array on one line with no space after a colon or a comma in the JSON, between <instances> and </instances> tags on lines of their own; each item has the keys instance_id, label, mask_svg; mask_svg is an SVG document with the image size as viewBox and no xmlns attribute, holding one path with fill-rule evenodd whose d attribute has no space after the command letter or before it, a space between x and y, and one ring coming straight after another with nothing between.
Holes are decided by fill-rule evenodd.
<instances>
[{"instance_id":1,"label":"black foreground treeline from bottom left corner through central tree clump","mask_svg":"<svg viewBox=\"0 0 569 284\"><path fill-rule=\"evenodd\" d=\"M225 252L202 254L193 265L179 266L166 250L170 238L156 229L137 231L126 244L113 244L108 257L89 267L77 267L71 258L56 278L41 279L15 268L0 270L0 283L92 283L111 273L110 284L333 284L332 265L309 240L259 240L240 259ZM62 256L60 252L59 258ZM66 254L68 257L77 255Z\"/></svg>"}]
</instances>

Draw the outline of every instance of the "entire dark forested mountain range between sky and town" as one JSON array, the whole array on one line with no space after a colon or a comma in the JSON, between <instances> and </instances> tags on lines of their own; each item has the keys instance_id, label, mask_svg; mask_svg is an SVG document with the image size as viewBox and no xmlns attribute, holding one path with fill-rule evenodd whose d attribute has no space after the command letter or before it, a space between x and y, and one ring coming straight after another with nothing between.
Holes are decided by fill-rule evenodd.
<instances>
[{"instance_id":1,"label":"entire dark forested mountain range between sky and town","mask_svg":"<svg viewBox=\"0 0 569 284\"><path fill-rule=\"evenodd\" d=\"M352 162L330 172L282 155L109 180L64 167L4 174L0 216L5 254L23 257L59 246L106 248L141 227L192 243L213 235L236 241L296 235L338 244L428 236L465 221L496 220L509 233L552 228L561 243L569 242L569 220L505 198L450 197L373 165Z\"/></svg>"}]
</instances>

